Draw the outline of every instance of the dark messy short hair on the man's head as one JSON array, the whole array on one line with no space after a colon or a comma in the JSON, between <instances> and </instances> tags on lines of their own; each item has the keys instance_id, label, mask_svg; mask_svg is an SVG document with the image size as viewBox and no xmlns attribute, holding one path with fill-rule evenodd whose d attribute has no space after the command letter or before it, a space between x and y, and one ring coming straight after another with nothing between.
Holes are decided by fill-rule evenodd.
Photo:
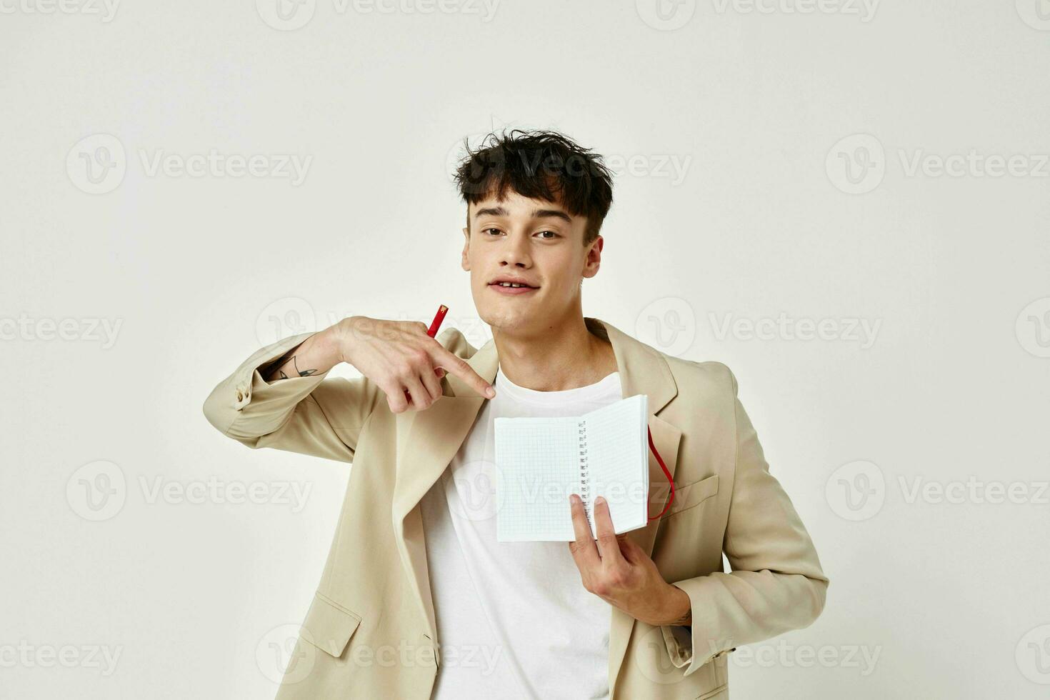
<instances>
[{"instance_id":1,"label":"dark messy short hair on the man's head","mask_svg":"<svg viewBox=\"0 0 1050 700\"><path fill-rule=\"evenodd\" d=\"M530 199L561 201L573 216L586 216L584 246L597 238L612 206L611 172L602 156L555 131L512 129L489 133L475 150L469 139L455 179L463 201L483 201L495 193L503 199L507 188Z\"/></svg>"}]
</instances>

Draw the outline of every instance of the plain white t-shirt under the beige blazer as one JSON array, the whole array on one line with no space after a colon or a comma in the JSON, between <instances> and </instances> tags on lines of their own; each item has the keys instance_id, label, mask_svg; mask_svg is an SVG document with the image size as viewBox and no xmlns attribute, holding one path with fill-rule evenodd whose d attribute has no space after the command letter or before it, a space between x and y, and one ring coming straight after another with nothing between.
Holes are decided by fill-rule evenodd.
<instances>
[{"instance_id":1,"label":"plain white t-shirt under the beige blazer","mask_svg":"<svg viewBox=\"0 0 1050 700\"><path fill-rule=\"evenodd\" d=\"M494 420L620 401L620 373L537 391L498 372L495 386L420 506L442 662L430 697L608 698L612 610L584 589L568 543L496 540Z\"/></svg>"}]
</instances>

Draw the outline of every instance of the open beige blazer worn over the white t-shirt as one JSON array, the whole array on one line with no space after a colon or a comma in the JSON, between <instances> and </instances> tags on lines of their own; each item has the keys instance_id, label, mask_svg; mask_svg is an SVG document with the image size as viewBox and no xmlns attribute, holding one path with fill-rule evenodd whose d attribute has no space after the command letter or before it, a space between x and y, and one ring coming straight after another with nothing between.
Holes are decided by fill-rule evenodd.
<instances>
[{"instance_id":1,"label":"open beige blazer worn over the white t-shirt","mask_svg":"<svg viewBox=\"0 0 1050 700\"><path fill-rule=\"evenodd\" d=\"M652 627L609 607L613 699L729 697L726 654L811 624L828 579L720 362L665 355L596 318L625 397L649 397L649 429L675 482L673 506L630 536L689 594L691 628ZM268 345L218 383L208 421L253 449L353 462L335 536L277 700L428 698L441 663L419 502L466 439L486 399L458 377L423 411L394 413L382 390L328 373L268 384L257 368L302 342ZM495 343L455 328L438 341L491 382ZM649 453L650 513L667 479ZM722 569L722 552L732 571ZM294 559L281 563L296 566ZM513 591L506 595L513 596Z\"/></svg>"}]
</instances>

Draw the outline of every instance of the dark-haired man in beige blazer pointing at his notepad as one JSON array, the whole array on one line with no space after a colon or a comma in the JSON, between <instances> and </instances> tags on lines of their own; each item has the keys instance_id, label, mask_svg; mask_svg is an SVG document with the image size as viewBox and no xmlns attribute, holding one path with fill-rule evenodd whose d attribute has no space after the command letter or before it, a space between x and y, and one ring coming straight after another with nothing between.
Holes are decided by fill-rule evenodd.
<instances>
[{"instance_id":1,"label":"dark-haired man in beige blazer pointing at his notepad","mask_svg":"<svg viewBox=\"0 0 1050 700\"><path fill-rule=\"evenodd\" d=\"M584 317L612 203L600 157L492 134L457 172L462 268L492 328L354 316L264 347L205 402L251 447L353 462L293 662L293 698L727 698L726 654L812 623L828 579L720 362L670 357ZM331 378L348 362L360 378ZM495 385L495 387L494 387ZM495 390L494 390L495 388ZM651 522L498 543L498 417L649 399ZM732 571L722 571L722 552Z\"/></svg>"}]
</instances>

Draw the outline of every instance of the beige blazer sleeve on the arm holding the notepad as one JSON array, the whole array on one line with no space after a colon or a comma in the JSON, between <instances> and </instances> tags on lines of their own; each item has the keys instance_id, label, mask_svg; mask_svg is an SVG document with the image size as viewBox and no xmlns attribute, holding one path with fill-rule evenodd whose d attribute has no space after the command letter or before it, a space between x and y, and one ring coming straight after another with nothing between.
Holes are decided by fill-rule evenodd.
<instances>
[{"instance_id":1,"label":"beige blazer sleeve on the arm holding the notepad","mask_svg":"<svg viewBox=\"0 0 1050 700\"><path fill-rule=\"evenodd\" d=\"M672 581L689 594L692 625L662 625L671 661L689 675L711 659L808 627L824 609L828 578L802 521L770 473L758 434L733 385L736 475L722 549L732 569Z\"/></svg>"}]
</instances>

